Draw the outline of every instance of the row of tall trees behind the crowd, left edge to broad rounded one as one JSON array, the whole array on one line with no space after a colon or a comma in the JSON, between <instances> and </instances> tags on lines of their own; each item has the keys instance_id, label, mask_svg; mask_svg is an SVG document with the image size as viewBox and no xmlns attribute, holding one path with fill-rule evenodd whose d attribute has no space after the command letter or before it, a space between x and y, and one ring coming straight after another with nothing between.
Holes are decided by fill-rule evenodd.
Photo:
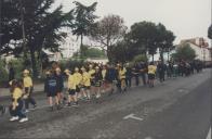
<instances>
[{"instance_id":1,"label":"row of tall trees behind the crowd, left edge to broad rounded one","mask_svg":"<svg viewBox=\"0 0 212 139\"><path fill-rule=\"evenodd\" d=\"M140 54L150 54L154 61L157 50L163 61L163 53L174 48L174 34L161 23L140 22L128 28L119 15L100 18L95 14L97 2L84 5L75 1L74 9L66 13L62 5L52 9L53 4L54 0L1 0L0 3L0 54L24 58L35 77L39 65L48 61L42 50L61 51L59 45L67 37L64 27L69 27L80 39L80 56L87 55L84 37L98 43L110 62L132 61ZM95 50L91 53L103 54Z\"/></svg>"}]
</instances>

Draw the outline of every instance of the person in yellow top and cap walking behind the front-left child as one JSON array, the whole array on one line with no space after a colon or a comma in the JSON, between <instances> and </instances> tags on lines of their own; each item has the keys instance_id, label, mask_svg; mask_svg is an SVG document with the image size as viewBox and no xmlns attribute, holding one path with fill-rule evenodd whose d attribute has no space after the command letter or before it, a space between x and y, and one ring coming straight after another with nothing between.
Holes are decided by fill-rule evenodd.
<instances>
[{"instance_id":1,"label":"person in yellow top and cap walking behind the front-left child","mask_svg":"<svg viewBox=\"0 0 212 139\"><path fill-rule=\"evenodd\" d=\"M31 77L29 76L29 71L25 70L23 74L24 74L23 83L24 83L24 90L25 90L24 93L25 112L28 112L29 103L34 105L34 109L37 106L37 104L36 104L36 100L31 96L34 90L34 84Z\"/></svg>"}]
</instances>

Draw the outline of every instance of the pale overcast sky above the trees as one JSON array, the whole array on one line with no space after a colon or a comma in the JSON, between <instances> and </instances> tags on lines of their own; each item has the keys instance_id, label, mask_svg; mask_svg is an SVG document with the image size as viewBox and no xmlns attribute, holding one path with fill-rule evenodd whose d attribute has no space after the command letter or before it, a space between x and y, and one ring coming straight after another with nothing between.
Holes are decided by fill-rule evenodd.
<instances>
[{"instance_id":1,"label":"pale overcast sky above the trees","mask_svg":"<svg viewBox=\"0 0 212 139\"><path fill-rule=\"evenodd\" d=\"M74 0L56 0L70 10ZM211 24L211 0L78 0L83 4L98 2L96 14L118 14L130 27L135 22L162 23L181 39L207 37Z\"/></svg>"}]
</instances>

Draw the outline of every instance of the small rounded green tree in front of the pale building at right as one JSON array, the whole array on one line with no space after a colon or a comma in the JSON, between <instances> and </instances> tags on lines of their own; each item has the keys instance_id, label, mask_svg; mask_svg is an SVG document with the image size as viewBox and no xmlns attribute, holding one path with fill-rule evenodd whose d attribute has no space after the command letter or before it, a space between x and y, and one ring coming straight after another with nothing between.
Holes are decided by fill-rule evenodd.
<instances>
[{"instance_id":1,"label":"small rounded green tree in front of the pale building at right","mask_svg":"<svg viewBox=\"0 0 212 139\"><path fill-rule=\"evenodd\" d=\"M188 43L178 46L176 52L172 54L172 59L175 61L193 61L196 58L196 52L190 48Z\"/></svg>"}]
</instances>

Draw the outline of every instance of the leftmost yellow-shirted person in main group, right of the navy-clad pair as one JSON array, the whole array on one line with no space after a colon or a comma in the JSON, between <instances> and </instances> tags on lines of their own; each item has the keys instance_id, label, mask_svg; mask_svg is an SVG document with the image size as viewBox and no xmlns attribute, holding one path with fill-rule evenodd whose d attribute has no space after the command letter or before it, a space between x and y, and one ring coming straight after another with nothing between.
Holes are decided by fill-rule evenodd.
<instances>
[{"instance_id":1,"label":"leftmost yellow-shirted person in main group, right of the navy-clad pair","mask_svg":"<svg viewBox=\"0 0 212 139\"><path fill-rule=\"evenodd\" d=\"M74 74L69 70L65 70L64 73L68 76L68 104L67 106L77 106L78 100L76 94L77 80ZM72 104L71 104L72 102Z\"/></svg>"}]
</instances>

